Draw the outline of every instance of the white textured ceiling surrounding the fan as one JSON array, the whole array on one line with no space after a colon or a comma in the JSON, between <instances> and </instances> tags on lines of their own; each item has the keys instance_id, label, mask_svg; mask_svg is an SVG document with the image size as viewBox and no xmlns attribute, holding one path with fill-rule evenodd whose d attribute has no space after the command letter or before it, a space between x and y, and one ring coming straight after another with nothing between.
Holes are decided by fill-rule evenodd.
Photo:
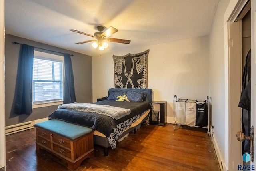
<instances>
[{"instance_id":1,"label":"white textured ceiling surrounding the fan","mask_svg":"<svg viewBox=\"0 0 256 171\"><path fill-rule=\"evenodd\" d=\"M5 0L7 34L60 48L97 55L88 34L96 26L119 31L110 38L131 40L109 43L103 53L205 36L210 32L219 0ZM15 40L14 40L15 41ZM22 43L22 42L20 42Z\"/></svg>"}]
</instances>

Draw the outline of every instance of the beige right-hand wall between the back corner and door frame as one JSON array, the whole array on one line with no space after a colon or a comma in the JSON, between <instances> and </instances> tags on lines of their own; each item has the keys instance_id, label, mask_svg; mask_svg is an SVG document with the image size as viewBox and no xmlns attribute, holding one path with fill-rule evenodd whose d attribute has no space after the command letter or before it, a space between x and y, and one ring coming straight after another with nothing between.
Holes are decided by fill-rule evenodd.
<instances>
[{"instance_id":1,"label":"beige right-hand wall between the back corner and door frame","mask_svg":"<svg viewBox=\"0 0 256 171\"><path fill-rule=\"evenodd\" d=\"M209 34L209 78L210 78L210 105L212 125L214 125L214 136L223 158L228 150L228 141L225 141L225 68L224 68L224 13L228 7L229 0L220 1L215 13L212 28ZM228 165L228 161L225 164Z\"/></svg>"}]
</instances>

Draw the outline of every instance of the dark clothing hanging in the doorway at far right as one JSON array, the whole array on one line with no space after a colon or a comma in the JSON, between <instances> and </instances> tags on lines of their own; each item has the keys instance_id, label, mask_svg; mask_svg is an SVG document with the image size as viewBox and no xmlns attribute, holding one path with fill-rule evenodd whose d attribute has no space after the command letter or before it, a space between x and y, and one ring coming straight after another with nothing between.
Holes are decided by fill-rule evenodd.
<instances>
[{"instance_id":1,"label":"dark clothing hanging in the doorway at far right","mask_svg":"<svg viewBox=\"0 0 256 171\"><path fill-rule=\"evenodd\" d=\"M244 135L250 136L251 127L251 50L249 50L246 56L246 63L243 71L242 93L238 107L242 108L242 132ZM242 154L250 154L250 141L246 139L242 142Z\"/></svg>"}]
</instances>

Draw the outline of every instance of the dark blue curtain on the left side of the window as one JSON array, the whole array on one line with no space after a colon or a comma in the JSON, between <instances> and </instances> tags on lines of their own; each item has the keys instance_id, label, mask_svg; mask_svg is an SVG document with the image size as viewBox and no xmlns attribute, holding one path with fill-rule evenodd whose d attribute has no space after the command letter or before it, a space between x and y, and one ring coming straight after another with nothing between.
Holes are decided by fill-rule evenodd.
<instances>
[{"instance_id":1,"label":"dark blue curtain on the left side of the window","mask_svg":"<svg viewBox=\"0 0 256 171\"><path fill-rule=\"evenodd\" d=\"M14 95L14 113L18 115L32 113L33 60L34 47L22 44L20 46Z\"/></svg>"}]
</instances>

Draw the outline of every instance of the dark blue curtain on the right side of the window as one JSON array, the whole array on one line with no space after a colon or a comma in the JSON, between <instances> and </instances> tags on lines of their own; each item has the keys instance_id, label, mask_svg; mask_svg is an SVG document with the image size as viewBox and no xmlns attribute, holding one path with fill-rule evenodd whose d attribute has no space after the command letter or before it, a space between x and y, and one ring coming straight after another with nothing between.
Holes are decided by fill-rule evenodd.
<instances>
[{"instance_id":1,"label":"dark blue curtain on the right side of the window","mask_svg":"<svg viewBox=\"0 0 256 171\"><path fill-rule=\"evenodd\" d=\"M76 102L74 76L70 54L64 54L65 80L64 80L64 97L63 103Z\"/></svg>"}]
</instances>

